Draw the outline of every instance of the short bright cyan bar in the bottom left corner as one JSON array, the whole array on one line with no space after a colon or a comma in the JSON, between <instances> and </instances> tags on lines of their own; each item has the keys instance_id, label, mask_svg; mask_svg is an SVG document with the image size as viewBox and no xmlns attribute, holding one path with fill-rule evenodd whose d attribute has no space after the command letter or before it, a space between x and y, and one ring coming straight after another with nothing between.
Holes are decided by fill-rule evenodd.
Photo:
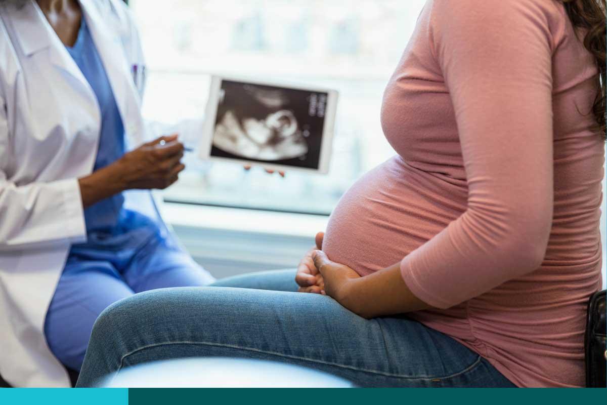
<instances>
[{"instance_id":1,"label":"short bright cyan bar in the bottom left corner","mask_svg":"<svg viewBox=\"0 0 607 405\"><path fill-rule=\"evenodd\" d=\"M127 405L122 388L7 388L0 389L1 405Z\"/></svg>"}]
</instances>

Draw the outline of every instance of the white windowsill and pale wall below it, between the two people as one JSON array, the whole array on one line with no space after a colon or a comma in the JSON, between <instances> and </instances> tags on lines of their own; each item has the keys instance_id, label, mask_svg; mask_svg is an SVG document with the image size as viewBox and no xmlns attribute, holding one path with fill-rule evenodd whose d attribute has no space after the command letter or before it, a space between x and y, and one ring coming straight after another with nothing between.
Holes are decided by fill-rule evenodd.
<instances>
[{"instance_id":1,"label":"white windowsill and pale wall below it, between the two people","mask_svg":"<svg viewBox=\"0 0 607 405\"><path fill-rule=\"evenodd\" d=\"M215 277L295 268L328 217L164 203L163 217Z\"/></svg>"}]
</instances>

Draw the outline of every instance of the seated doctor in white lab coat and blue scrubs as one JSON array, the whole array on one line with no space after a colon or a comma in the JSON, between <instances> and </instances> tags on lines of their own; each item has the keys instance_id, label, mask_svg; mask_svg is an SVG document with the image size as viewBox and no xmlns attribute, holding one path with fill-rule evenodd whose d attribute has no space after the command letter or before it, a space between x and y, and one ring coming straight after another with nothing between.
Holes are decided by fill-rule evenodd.
<instances>
[{"instance_id":1,"label":"seated doctor in white lab coat and blue scrubs","mask_svg":"<svg viewBox=\"0 0 607 405\"><path fill-rule=\"evenodd\" d=\"M112 302L212 281L149 192L184 166L176 135L146 143L144 69L120 0L0 0L0 375L13 386L69 386L64 366L80 370Z\"/></svg>"}]
</instances>

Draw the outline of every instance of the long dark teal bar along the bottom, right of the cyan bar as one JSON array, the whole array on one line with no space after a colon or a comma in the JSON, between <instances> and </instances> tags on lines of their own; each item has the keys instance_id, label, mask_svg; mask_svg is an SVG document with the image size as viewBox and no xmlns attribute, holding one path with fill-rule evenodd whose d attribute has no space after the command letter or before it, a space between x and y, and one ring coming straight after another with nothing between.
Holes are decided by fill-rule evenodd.
<instances>
[{"instance_id":1,"label":"long dark teal bar along the bottom, right of the cyan bar","mask_svg":"<svg viewBox=\"0 0 607 405\"><path fill-rule=\"evenodd\" d=\"M130 389L129 405L605 404L607 389Z\"/></svg>"}]
</instances>

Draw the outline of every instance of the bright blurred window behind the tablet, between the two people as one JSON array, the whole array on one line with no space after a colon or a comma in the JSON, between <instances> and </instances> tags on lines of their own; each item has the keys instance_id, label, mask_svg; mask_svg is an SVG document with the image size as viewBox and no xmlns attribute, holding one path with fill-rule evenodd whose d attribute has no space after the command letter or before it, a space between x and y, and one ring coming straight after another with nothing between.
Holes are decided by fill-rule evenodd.
<instances>
[{"instance_id":1,"label":"bright blurred window behind the tablet, between the two people","mask_svg":"<svg viewBox=\"0 0 607 405\"><path fill-rule=\"evenodd\" d=\"M144 116L202 117L209 73L339 90L328 175L285 179L186 158L167 200L330 213L358 177L394 154L379 111L425 0L131 0L148 63Z\"/></svg>"}]
</instances>

